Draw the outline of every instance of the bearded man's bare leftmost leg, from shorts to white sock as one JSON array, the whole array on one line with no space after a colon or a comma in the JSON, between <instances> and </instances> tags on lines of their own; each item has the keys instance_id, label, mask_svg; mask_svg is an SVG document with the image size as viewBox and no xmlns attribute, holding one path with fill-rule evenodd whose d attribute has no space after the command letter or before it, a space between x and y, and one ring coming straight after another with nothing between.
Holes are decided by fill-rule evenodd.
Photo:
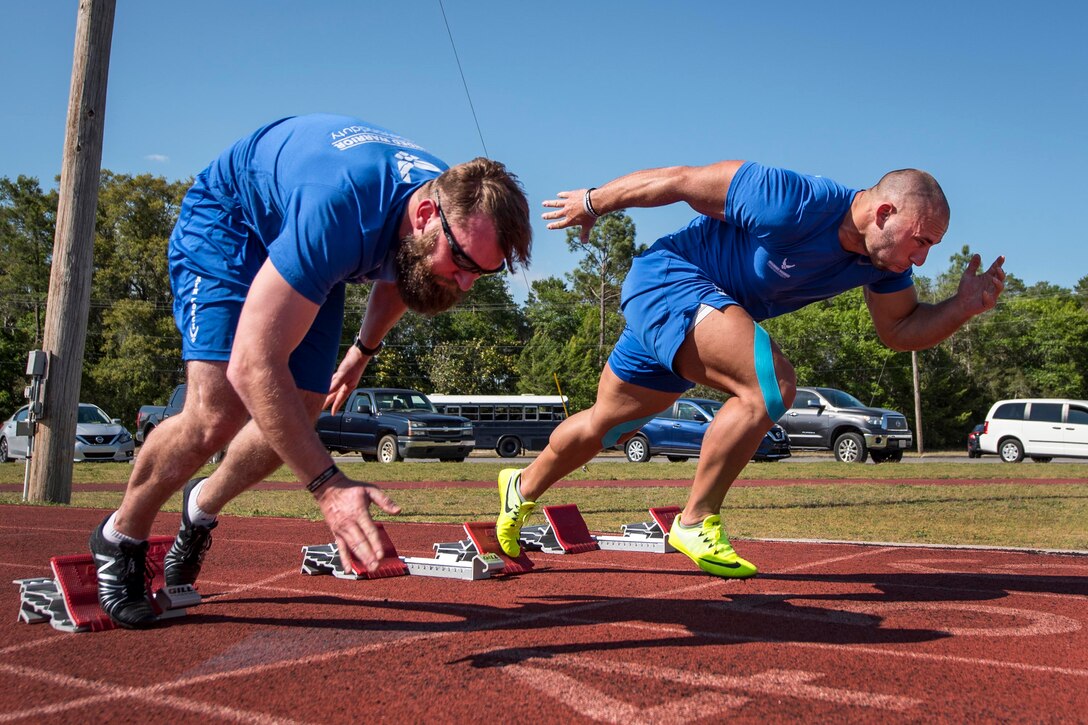
<instances>
[{"instance_id":1,"label":"bearded man's bare leftmost leg, from shorts to white sock","mask_svg":"<svg viewBox=\"0 0 1088 725\"><path fill-rule=\"evenodd\" d=\"M246 407L226 380L226 362L189 361L186 382L185 407L145 441L113 517L113 528L133 539L150 536L166 500L246 421Z\"/></svg>"}]
</instances>

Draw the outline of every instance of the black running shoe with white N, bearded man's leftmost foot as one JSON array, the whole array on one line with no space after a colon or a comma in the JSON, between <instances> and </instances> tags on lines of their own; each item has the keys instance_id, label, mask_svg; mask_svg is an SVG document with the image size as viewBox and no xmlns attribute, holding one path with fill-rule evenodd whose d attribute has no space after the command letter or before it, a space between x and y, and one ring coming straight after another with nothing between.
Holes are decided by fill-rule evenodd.
<instances>
[{"instance_id":1,"label":"black running shoe with white N, bearded man's leftmost foot","mask_svg":"<svg viewBox=\"0 0 1088 725\"><path fill-rule=\"evenodd\" d=\"M90 534L90 554L98 569L98 603L111 619L128 629L158 623L147 595L147 542L115 544L102 534L109 516Z\"/></svg>"}]
</instances>

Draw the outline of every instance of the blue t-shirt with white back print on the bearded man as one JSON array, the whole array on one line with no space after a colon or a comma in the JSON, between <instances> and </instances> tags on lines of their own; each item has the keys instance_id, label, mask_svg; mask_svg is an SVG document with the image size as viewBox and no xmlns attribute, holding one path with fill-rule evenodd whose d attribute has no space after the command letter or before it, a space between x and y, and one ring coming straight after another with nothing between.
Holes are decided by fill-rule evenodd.
<instances>
[{"instance_id":1,"label":"blue t-shirt with white back print on the bearded man","mask_svg":"<svg viewBox=\"0 0 1088 725\"><path fill-rule=\"evenodd\" d=\"M447 168L359 119L281 119L226 149L197 180L226 208L240 209L251 230L246 248L191 245L185 254L218 259L222 269L226 253L228 266L239 265L249 279L271 259L295 291L320 305L341 282L395 279L405 205Z\"/></svg>"}]
</instances>

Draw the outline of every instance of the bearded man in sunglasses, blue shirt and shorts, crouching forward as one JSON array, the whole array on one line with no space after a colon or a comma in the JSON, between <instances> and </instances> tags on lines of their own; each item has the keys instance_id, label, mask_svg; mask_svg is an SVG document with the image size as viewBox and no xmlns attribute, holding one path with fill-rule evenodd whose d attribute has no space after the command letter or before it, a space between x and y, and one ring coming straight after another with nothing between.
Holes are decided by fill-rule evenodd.
<instances>
[{"instance_id":1,"label":"bearded man in sunglasses, blue shirt and shorts, crouching forward","mask_svg":"<svg viewBox=\"0 0 1088 725\"><path fill-rule=\"evenodd\" d=\"M215 515L281 464L317 499L345 569L374 569L384 552L370 505L399 509L339 471L313 421L343 405L406 310L434 315L481 275L528 265L531 236L524 192L502 163L447 168L359 119L282 119L220 155L170 238L184 409L148 438L121 507L90 538L106 613L125 627L154 624L147 538L174 492L182 527L165 580L191 585ZM358 336L334 371L345 284L364 282ZM210 477L185 483L228 442Z\"/></svg>"}]
</instances>

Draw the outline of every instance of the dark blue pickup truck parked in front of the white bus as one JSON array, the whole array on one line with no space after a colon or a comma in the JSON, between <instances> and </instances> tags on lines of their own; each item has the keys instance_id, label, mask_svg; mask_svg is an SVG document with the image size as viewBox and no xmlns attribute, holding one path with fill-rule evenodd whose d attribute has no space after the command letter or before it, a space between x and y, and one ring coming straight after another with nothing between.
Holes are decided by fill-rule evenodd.
<instances>
[{"instance_id":1,"label":"dark blue pickup truck parked in front of the white bus","mask_svg":"<svg viewBox=\"0 0 1088 725\"><path fill-rule=\"evenodd\" d=\"M322 413L318 435L334 453L358 451L363 460L465 460L475 447L472 422L434 411L426 395L399 388L359 388L343 413Z\"/></svg>"}]
</instances>

